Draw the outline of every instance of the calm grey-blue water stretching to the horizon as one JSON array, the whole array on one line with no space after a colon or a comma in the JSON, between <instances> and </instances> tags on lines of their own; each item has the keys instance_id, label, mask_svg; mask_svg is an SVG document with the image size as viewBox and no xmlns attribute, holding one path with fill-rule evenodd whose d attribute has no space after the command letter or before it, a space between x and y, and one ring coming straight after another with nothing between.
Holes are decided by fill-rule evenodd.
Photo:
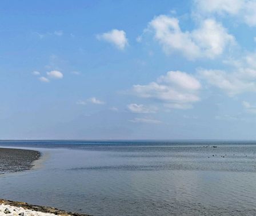
<instances>
[{"instance_id":1,"label":"calm grey-blue water stretching to the horizon","mask_svg":"<svg viewBox=\"0 0 256 216\"><path fill-rule=\"evenodd\" d=\"M92 215L256 215L256 142L0 141L0 146L44 154L38 169L0 175L1 198Z\"/></svg>"}]
</instances>

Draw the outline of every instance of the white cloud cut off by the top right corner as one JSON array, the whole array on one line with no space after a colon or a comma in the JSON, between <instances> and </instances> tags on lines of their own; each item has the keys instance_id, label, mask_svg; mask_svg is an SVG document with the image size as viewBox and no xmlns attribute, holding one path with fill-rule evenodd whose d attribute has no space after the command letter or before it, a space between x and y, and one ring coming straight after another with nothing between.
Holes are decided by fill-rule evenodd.
<instances>
[{"instance_id":1,"label":"white cloud cut off by the top right corner","mask_svg":"<svg viewBox=\"0 0 256 216\"><path fill-rule=\"evenodd\" d=\"M248 26L256 25L255 0L195 0L196 13L209 15L231 15Z\"/></svg>"}]
</instances>

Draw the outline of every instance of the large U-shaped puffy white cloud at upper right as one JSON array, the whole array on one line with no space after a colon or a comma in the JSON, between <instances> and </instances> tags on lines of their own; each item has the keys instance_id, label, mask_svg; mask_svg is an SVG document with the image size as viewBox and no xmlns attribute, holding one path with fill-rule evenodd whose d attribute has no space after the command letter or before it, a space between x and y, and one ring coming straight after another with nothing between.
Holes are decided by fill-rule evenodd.
<instances>
[{"instance_id":1,"label":"large U-shaped puffy white cloud at upper right","mask_svg":"<svg viewBox=\"0 0 256 216\"><path fill-rule=\"evenodd\" d=\"M198 29L189 32L181 30L177 18L159 15L149 23L147 30L153 30L155 39L167 54L178 51L189 59L213 59L235 43L233 35L214 19L203 20Z\"/></svg>"}]
</instances>

